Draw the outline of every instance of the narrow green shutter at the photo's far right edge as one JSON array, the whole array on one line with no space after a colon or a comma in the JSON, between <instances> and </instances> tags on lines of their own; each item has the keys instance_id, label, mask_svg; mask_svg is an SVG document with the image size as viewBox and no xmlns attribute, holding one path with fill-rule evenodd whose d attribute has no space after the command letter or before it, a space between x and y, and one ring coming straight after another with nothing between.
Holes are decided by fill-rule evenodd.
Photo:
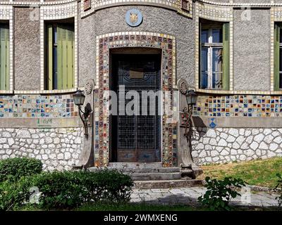
<instances>
[{"instance_id":1,"label":"narrow green shutter at the photo's far right edge","mask_svg":"<svg viewBox=\"0 0 282 225\"><path fill-rule=\"evenodd\" d=\"M279 90L280 70L280 27L276 24L274 29L274 90Z\"/></svg>"}]
</instances>

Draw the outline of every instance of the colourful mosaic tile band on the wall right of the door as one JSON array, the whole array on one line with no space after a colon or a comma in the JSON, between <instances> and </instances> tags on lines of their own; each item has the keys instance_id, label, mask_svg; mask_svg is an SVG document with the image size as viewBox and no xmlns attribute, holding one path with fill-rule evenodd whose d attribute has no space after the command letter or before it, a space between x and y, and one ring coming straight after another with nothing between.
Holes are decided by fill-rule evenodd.
<instances>
[{"instance_id":1,"label":"colourful mosaic tile band on the wall right of the door","mask_svg":"<svg viewBox=\"0 0 282 225\"><path fill-rule=\"evenodd\" d=\"M282 117L282 96L199 96L195 116Z\"/></svg>"}]
</instances>

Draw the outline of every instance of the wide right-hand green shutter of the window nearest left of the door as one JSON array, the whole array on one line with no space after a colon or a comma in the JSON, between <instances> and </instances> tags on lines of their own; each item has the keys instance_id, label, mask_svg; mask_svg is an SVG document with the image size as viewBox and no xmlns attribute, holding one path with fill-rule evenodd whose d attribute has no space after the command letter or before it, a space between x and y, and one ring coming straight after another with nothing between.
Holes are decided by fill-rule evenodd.
<instances>
[{"instance_id":1,"label":"wide right-hand green shutter of the window nearest left of the door","mask_svg":"<svg viewBox=\"0 0 282 225\"><path fill-rule=\"evenodd\" d=\"M69 25L58 26L58 89L74 86L74 32Z\"/></svg>"}]
</instances>

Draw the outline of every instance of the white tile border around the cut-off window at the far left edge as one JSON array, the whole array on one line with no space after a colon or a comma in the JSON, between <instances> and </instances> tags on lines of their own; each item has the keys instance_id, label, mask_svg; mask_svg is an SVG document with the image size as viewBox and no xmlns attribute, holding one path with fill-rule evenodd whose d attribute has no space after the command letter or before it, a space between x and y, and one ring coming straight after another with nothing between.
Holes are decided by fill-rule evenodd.
<instances>
[{"instance_id":1,"label":"white tile border around the cut-off window at the far left edge","mask_svg":"<svg viewBox=\"0 0 282 225\"><path fill-rule=\"evenodd\" d=\"M10 88L9 90L0 90L0 94L13 93L13 7L0 6L0 20L9 21L10 32Z\"/></svg>"}]
</instances>

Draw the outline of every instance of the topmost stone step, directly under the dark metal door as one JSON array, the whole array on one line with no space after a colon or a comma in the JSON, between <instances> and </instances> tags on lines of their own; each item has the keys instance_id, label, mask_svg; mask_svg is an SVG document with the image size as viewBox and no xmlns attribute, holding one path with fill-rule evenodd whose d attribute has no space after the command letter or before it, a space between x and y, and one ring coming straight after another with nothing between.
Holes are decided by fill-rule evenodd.
<instances>
[{"instance_id":1,"label":"topmost stone step, directly under the dark metal door","mask_svg":"<svg viewBox=\"0 0 282 225\"><path fill-rule=\"evenodd\" d=\"M110 162L109 166L114 169L157 169L163 167L161 162Z\"/></svg>"}]
</instances>

